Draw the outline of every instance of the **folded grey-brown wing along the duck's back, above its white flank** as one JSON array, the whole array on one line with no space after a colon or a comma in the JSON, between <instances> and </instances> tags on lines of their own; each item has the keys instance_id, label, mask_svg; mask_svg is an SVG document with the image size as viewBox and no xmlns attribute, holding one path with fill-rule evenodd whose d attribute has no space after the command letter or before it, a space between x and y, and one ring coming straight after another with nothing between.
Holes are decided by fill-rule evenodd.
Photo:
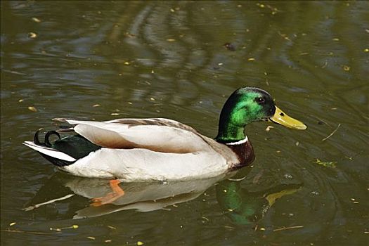
<instances>
[{"instance_id":1,"label":"folded grey-brown wing along the duck's back, above its white flank","mask_svg":"<svg viewBox=\"0 0 369 246\"><path fill-rule=\"evenodd\" d=\"M205 136L172 119L53 120L74 125L77 134L105 148L146 148L162 153L193 153L211 148Z\"/></svg>"}]
</instances>

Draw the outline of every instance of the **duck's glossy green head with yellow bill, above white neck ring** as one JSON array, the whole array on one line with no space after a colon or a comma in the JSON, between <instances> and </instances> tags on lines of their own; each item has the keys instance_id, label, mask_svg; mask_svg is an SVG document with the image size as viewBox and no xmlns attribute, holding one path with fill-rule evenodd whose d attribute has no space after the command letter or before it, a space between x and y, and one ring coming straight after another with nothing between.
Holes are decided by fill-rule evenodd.
<instances>
[{"instance_id":1,"label":"duck's glossy green head with yellow bill, above white neck ring","mask_svg":"<svg viewBox=\"0 0 369 246\"><path fill-rule=\"evenodd\" d=\"M268 92L254 87L243 87L233 92L224 104L216 141L240 141L245 138L245 126L259 121L271 121L292 129L306 129L304 123L277 108Z\"/></svg>"}]
</instances>

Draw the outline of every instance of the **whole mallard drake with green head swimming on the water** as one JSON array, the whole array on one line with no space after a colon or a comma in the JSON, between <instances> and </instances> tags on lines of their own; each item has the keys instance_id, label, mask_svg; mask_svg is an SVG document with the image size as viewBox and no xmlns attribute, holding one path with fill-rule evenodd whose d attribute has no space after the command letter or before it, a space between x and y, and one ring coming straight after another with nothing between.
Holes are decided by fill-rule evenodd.
<instances>
[{"instance_id":1,"label":"whole mallard drake with green head swimming on the water","mask_svg":"<svg viewBox=\"0 0 369 246\"><path fill-rule=\"evenodd\" d=\"M24 144L39 151L60 169L77 176L125 181L179 180L217 176L254 158L244 127L271 120L285 127L306 129L276 107L268 92L244 87L226 101L215 139L172 119L113 119L107 122L53 119L73 125L75 135L60 138L48 131L45 142ZM58 140L50 143L49 136Z\"/></svg>"}]
</instances>

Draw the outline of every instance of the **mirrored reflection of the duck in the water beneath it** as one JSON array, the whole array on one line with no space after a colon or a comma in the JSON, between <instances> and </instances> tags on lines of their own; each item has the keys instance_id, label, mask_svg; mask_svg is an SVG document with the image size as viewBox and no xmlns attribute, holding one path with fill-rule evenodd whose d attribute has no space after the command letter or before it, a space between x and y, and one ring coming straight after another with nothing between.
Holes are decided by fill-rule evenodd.
<instances>
[{"instance_id":1,"label":"mirrored reflection of the duck in the water beneath it","mask_svg":"<svg viewBox=\"0 0 369 246\"><path fill-rule=\"evenodd\" d=\"M279 185L262 192L249 192L241 183L250 169L245 167L211 179L113 184L107 179L87 179L57 172L39 189L25 211L48 207L53 209L51 214L57 214L56 217L73 219L103 216L127 209L150 212L198 198L215 185L216 200L224 214L234 224L253 224L264 216L278 198L292 194L302 186ZM114 196L117 190L113 186L122 190L122 193ZM96 198L107 196L114 198L106 204L96 202ZM67 205L67 209L64 206L63 211L54 211L58 207L50 204L60 202Z\"/></svg>"}]
</instances>

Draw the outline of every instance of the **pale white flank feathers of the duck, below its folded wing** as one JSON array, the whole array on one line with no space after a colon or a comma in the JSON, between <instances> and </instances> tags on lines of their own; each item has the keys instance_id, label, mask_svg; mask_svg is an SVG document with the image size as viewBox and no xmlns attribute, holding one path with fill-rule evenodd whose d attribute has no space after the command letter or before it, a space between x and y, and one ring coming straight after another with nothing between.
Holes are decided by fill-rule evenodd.
<instances>
[{"instance_id":1,"label":"pale white flank feathers of the duck, below its folded wing","mask_svg":"<svg viewBox=\"0 0 369 246\"><path fill-rule=\"evenodd\" d=\"M101 148L60 168L77 176L119 178L124 181L162 181L217 176L228 169L228 164L219 153L211 151L178 154L140 148Z\"/></svg>"}]
</instances>

